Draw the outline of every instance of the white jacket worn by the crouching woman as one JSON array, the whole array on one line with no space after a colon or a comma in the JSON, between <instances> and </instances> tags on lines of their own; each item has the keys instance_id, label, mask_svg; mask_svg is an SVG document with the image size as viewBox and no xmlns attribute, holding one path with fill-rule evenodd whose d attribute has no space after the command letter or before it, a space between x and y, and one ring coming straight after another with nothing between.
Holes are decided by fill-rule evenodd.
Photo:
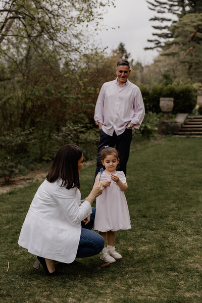
<instances>
[{"instance_id":1,"label":"white jacket worn by the crouching woman","mask_svg":"<svg viewBox=\"0 0 202 303\"><path fill-rule=\"evenodd\" d=\"M85 200L80 205L77 187L66 189L60 182L45 180L38 188L23 223L19 245L31 254L71 263L78 249L81 221L91 214Z\"/></svg>"}]
</instances>

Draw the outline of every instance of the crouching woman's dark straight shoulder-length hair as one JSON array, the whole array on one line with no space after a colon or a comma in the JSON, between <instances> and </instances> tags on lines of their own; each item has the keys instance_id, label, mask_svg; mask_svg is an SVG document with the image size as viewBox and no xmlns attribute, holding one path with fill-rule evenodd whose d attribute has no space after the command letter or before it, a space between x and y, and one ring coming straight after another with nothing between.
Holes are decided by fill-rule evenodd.
<instances>
[{"instance_id":1,"label":"crouching woman's dark straight shoulder-length hair","mask_svg":"<svg viewBox=\"0 0 202 303\"><path fill-rule=\"evenodd\" d=\"M47 181L53 183L62 180L62 185L67 189L80 187L78 161L83 151L77 145L65 144L58 151L51 168L46 176Z\"/></svg>"}]
</instances>

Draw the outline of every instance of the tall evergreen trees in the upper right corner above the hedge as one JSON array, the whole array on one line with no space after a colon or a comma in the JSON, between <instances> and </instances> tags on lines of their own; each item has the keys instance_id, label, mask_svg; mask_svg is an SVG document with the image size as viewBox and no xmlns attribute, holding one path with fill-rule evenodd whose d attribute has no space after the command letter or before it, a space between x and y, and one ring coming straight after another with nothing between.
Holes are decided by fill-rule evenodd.
<instances>
[{"instance_id":1,"label":"tall evergreen trees in the upper right corner above the hedge","mask_svg":"<svg viewBox=\"0 0 202 303\"><path fill-rule=\"evenodd\" d=\"M164 56L162 64L172 80L180 83L201 83L202 2L201 0L147 1L157 15L154 39L147 40ZM165 57L168 60L165 60ZM161 60L159 60L161 61ZM165 62L167 61L167 62Z\"/></svg>"}]
</instances>

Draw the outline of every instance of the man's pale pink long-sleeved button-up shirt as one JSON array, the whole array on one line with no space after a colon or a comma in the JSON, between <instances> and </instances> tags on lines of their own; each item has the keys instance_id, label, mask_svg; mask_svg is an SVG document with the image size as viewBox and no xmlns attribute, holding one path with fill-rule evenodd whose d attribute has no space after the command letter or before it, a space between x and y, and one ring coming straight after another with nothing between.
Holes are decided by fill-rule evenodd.
<instances>
[{"instance_id":1,"label":"man's pale pink long-sleeved button-up shirt","mask_svg":"<svg viewBox=\"0 0 202 303\"><path fill-rule=\"evenodd\" d=\"M127 80L122 86L116 80L106 82L100 89L94 120L103 123L103 131L112 136L122 134L128 123L138 129L144 119L144 103L139 87Z\"/></svg>"}]
</instances>

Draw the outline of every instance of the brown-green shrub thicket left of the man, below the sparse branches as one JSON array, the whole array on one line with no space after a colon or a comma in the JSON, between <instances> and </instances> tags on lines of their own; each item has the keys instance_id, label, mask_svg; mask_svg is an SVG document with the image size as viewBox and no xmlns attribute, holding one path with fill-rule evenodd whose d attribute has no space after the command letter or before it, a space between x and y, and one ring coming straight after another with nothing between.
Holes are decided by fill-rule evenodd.
<instances>
[{"instance_id":1,"label":"brown-green shrub thicket left of the man, below the sparse branches","mask_svg":"<svg viewBox=\"0 0 202 303\"><path fill-rule=\"evenodd\" d=\"M116 56L109 60L95 53L74 61L77 68L68 61L61 68L57 59L51 67L38 58L26 79L18 72L0 82L0 176L5 182L22 166L52 160L65 143L78 144L85 159L94 158L94 105L102 84L115 78L116 61Z\"/></svg>"}]
</instances>

